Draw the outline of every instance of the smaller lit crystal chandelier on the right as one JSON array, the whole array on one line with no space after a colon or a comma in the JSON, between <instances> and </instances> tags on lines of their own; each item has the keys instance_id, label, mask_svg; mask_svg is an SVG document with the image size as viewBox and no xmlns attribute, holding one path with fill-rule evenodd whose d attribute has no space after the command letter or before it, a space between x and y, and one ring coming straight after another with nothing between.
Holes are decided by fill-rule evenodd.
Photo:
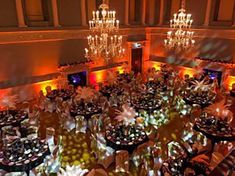
<instances>
[{"instance_id":1,"label":"smaller lit crystal chandelier on the right","mask_svg":"<svg viewBox=\"0 0 235 176\"><path fill-rule=\"evenodd\" d=\"M195 44L193 40L194 32L191 31L193 20L191 14L186 14L184 8L185 1L182 1L178 14L174 14L174 19L170 20L171 31L167 32L165 46L169 49L187 49Z\"/></svg>"}]
</instances>

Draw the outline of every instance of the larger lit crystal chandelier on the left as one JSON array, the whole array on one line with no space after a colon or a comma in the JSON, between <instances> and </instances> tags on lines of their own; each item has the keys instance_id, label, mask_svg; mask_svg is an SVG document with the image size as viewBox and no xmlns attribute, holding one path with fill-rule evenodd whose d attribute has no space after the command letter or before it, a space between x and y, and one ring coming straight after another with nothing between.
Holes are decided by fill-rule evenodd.
<instances>
[{"instance_id":1,"label":"larger lit crystal chandelier on the left","mask_svg":"<svg viewBox=\"0 0 235 176\"><path fill-rule=\"evenodd\" d=\"M93 11L93 19L89 21L91 35L87 37L85 57L88 60L104 58L106 61L123 57L125 49L122 47L122 36L118 35L119 20L116 19L116 12L109 11L104 0L99 9L100 11Z\"/></svg>"}]
</instances>

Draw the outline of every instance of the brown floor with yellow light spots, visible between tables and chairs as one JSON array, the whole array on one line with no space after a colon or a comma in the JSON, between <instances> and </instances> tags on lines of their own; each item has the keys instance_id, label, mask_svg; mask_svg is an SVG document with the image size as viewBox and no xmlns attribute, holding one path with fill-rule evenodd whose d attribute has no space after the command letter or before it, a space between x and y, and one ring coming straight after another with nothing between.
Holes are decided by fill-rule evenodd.
<instances>
[{"instance_id":1,"label":"brown floor with yellow light spots, visible between tables and chairs","mask_svg":"<svg viewBox=\"0 0 235 176\"><path fill-rule=\"evenodd\" d=\"M235 114L235 104L231 106L231 110ZM170 141L180 141L182 133L184 131L184 125L193 121L197 113L190 116L180 117L177 113L173 113L172 119L166 125L163 125L158 130L158 141L161 143L162 158L167 157L167 143ZM97 165L97 160L94 154L91 152L91 140L90 132L75 133L75 130L70 132L63 130L60 127L59 116L56 113L41 112L40 117L40 137L45 138L45 131L47 127L53 127L55 129L55 138L57 142L62 140L63 152L61 154L61 164L66 165L79 165L84 164L85 168L92 169L94 167L101 167ZM232 122L235 125L235 120ZM210 144L207 146L210 147ZM220 151L221 152L221 151ZM225 154L225 153L224 153ZM107 170L109 175L120 175L114 172L115 164L112 164ZM130 175L137 176L140 173L141 168L136 168L130 163Z\"/></svg>"}]
</instances>

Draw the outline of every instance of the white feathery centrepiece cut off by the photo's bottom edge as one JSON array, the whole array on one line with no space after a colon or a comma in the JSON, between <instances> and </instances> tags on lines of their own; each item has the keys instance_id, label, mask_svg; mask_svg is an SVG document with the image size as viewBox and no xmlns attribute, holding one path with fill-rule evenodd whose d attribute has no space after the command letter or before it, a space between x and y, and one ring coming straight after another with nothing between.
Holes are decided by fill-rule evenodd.
<instances>
[{"instance_id":1,"label":"white feathery centrepiece cut off by the photo's bottom edge","mask_svg":"<svg viewBox=\"0 0 235 176\"><path fill-rule=\"evenodd\" d=\"M65 169L60 169L58 176L83 176L88 172L88 169L82 169L80 166L66 166Z\"/></svg>"}]
</instances>

